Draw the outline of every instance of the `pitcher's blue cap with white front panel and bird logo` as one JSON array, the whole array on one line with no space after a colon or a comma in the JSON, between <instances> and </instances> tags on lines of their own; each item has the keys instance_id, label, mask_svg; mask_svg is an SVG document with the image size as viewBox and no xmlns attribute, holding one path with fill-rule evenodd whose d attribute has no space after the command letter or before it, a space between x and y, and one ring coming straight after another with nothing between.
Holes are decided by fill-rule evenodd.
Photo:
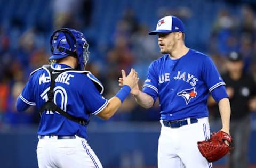
<instances>
[{"instance_id":1,"label":"pitcher's blue cap with white front panel and bird logo","mask_svg":"<svg viewBox=\"0 0 256 168\"><path fill-rule=\"evenodd\" d=\"M156 30L149 32L149 35L158 33L185 32L183 22L175 16L165 16L161 18L156 25Z\"/></svg>"}]
</instances>

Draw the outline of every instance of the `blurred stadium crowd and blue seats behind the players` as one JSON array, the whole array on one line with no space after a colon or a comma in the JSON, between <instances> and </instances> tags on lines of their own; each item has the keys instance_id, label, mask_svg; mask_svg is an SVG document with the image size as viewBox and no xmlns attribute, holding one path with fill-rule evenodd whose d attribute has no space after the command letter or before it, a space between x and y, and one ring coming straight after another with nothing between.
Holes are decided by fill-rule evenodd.
<instances>
[{"instance_id":1,"label":"blurred stadium crowd and blue seats behind the players","mask_svg":"<svg viewBox=\"0 0 256 168\"><path fill-rule=\"evenodd\" d=\"M105 86L105 98L119 90L121 69L137 70L140 86L143 85L149 64L161 56L157 37L148 36L148 32L166 15L178 16L185 23L185 44L209 55L223 75L228 72L228 56L235 51L241 56L243 74L249 74L252 83L256 81L256 2L253 0L0 2L0 128L6 124L39 122L34 108L18 113L15 101L30 72L48 63L50 36L57 28L84 32L90 51L86 69ZM246 101L249 114L256 102ZM218 120L214 103L209 105L210 119ZM97 117L92 120L105 122ZM157 103L145 110L131 96L108 122L158 120Z\"/></svg>"}]
</instances>

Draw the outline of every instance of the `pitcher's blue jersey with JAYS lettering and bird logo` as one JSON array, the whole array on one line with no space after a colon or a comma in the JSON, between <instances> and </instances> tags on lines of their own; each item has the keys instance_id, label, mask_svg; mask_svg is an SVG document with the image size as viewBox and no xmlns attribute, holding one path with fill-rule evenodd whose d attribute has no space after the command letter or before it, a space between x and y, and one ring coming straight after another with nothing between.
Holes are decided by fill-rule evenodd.
<instances>
[{"instance_id":1,"label":"pitcher's blue jersey with JAYS lettering and bird logo","mask_svg":"<svg viewBox=\"0 0 256 168\"><path fill-rule=\"evenodd\" d=\"M178 60L168 54L151 63L143 92L159 97L161 119L206 117L209 93L225 85L209 56L189 49Z\"/></svg>"}]
</instances>

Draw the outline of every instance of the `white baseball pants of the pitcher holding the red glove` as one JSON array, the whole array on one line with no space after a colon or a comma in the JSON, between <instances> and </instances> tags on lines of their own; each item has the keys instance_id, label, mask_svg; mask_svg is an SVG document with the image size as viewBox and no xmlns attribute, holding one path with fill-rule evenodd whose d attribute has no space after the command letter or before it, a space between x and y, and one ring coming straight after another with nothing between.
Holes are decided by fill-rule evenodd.
<instances>
[{"instance_id":1,"label":"white baseball pants of the pitcher holding the red glove","mask_svg":"<svg viewBox=\"0 0 256 168\"><path fill-rule=\"evenodd\" d=\"M158 141L158 168L212 168L199 152L197 142L210 138L208 117L198 119L179 128L170 128L161 122Z\"/></svg>"}]
</instances>

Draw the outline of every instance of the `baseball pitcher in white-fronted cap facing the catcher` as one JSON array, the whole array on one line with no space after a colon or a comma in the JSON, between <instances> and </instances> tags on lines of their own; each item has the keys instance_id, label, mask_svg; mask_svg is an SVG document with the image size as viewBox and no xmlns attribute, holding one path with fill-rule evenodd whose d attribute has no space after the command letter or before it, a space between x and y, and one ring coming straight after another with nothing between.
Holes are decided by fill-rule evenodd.
<instances>
[{"instance_id":1,"label":"baseball pitcher in white-fronted cap facing the catcher","mask_svg":"<svg viewBox=\"0 0 256 168\"><path fill-rule=\"evenodd\" d=\"M143 91L137 85L131 93L145 108L152 107L159 98L162 128L158 167L212 167L211 162L223 156L219 153L226 154L226 150L210 154L204 152L209 147L218 149L217 144L229 145L222 141L224 136L229 136L230 120L225 83L209 56L185 46L185 28L179 18L166 16L160 19L156 30L149 35L158 35L160 52L164 55L149 66ZM119 85L123 84L120 78ZM209 93L219 103L222 119L221 133L214 134L220 137L216 142L205 141L210 139ZM225 140L231 142L231 137ZM197 144L198 141L203 142ZM211 158L207 158L208 155Z\"/></svg>"}]
</instances>

